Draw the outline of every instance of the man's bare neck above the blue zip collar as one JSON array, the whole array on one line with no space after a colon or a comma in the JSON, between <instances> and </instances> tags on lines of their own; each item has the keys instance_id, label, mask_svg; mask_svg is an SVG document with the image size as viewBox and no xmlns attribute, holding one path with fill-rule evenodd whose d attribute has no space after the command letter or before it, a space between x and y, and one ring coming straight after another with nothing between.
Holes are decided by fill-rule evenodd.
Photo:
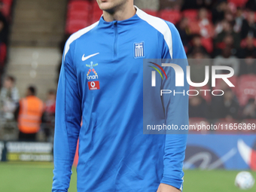
<instances>
[{"instance_id":1,"label":"man's bare neck above the blue zip collar","mask_svg":"<svg viewBox=\"0 0 256 192\"><path fill-rule=\"evenodd\" d=\"M136 14L136 8L133 5L123 5L116 8L116 11L103 11L103 18L107 22L113 20L128 20Z\"/></svg>"}]
</instances>

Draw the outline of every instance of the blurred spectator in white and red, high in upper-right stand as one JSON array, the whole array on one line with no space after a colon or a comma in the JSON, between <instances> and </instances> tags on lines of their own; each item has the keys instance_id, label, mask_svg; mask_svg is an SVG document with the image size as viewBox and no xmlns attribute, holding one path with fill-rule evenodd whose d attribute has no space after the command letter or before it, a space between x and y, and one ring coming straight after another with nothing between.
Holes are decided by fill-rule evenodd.
<instances>
[{"instance_id":1,"label":"blurred spectator in white and red, high in upper-right stand","mask_svg":"<svg viewBox=\"0 0 256 192\"><path fill-rule=\"evenodd\" d=\"M200 27L200 35L203 38L212 38L214 35L214 29L212 21L208 18L208 11L206 8L201 8L198 14L198 26Z\"/></svg>"}]
</instances>

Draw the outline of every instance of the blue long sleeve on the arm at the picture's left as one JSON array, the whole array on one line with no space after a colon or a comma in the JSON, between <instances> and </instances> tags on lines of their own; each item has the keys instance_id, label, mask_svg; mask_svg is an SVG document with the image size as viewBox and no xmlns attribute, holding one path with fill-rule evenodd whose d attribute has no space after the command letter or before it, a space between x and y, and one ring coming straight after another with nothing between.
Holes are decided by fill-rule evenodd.
<instances>
[{"instance_id":1,"label":"blue long sleeve on the arm at the picture's left","mask_svg":"<svg viewBox=\"0 0 256 192\"><path fill-rule=\"evenodd\" d=\"M72 50L64 53L56 95L56 120L53 145L52 191L68 191L72 163L81 129L81 96L72 62Z\"/></svg>"}]
</instances>

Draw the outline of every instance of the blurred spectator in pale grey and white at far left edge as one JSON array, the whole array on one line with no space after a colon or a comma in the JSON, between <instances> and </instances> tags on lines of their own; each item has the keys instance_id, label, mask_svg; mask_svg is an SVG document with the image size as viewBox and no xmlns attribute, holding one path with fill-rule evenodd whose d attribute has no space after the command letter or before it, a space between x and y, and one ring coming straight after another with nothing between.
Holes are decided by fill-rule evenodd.
<instances>
[{"instance_id":1,"label":"blurred spectator in pale grey and white at far left edge","mask_svg":"<svg viewBox=\"0 0 256 192\"><path fill-rule=\"evenodd\" d=\"M5 120L14 120L14 111L19 103L20 94L15 87L15 78L5 78L4 86L0 92L0 109Z\"/></svg>"}]
</instances>

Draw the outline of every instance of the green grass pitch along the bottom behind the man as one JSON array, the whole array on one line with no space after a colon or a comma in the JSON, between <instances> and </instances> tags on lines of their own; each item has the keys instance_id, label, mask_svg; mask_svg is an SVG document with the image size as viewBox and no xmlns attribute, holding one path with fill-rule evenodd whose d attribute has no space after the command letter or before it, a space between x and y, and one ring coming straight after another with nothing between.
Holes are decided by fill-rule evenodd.
<instances>
[{"instance_id":1,"label":"green grass pitch along the bottom behind the man","mask_svg":"<svg viewBox=\"0 0 256 192\"><path fill-rule=\"evenodd\" d=\"M76 173L73 169L69 192L76 191ZM234 185L239 171L186 170L184 192L236 192ZM256 178L256 172L251 172ZM0 163L0 191L2 192L46 192L51 191L53 164ZM251 190L256 191L256 185Z\"/></svg>"}]
</instances>

